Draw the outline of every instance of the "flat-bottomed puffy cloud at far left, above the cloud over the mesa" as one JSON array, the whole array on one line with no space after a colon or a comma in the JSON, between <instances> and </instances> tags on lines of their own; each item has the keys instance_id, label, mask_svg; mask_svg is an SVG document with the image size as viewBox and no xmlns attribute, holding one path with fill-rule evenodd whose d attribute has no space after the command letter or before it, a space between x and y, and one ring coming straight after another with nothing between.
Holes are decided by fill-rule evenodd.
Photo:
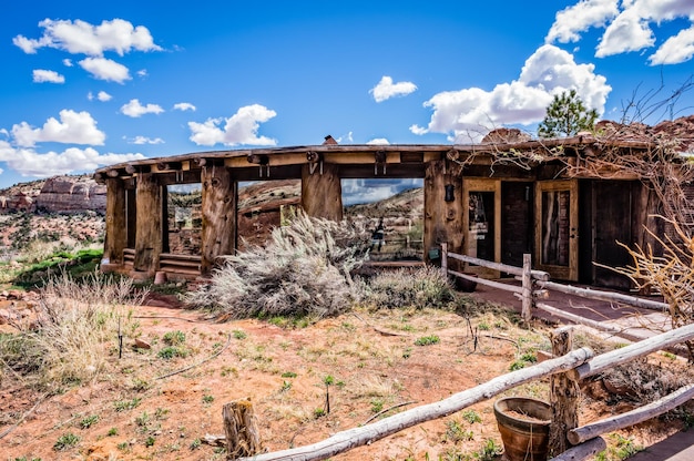
<instances>
[{"instance_id":1,"label":"flat-bottomed puffy cloud at far left, above the cloud over the mesa","mask_svg":"<svg viewBox=\"0 0 694 461\"><path fill-rule=\"evenodd\" d=\"M106 135L96 127L89 112L63 109L60 121L50 117L43 127L34 129L27 122L13 125L12 137L18 146L31 147L38 142L103 145Z\"/></svg>"}]
</instances>

